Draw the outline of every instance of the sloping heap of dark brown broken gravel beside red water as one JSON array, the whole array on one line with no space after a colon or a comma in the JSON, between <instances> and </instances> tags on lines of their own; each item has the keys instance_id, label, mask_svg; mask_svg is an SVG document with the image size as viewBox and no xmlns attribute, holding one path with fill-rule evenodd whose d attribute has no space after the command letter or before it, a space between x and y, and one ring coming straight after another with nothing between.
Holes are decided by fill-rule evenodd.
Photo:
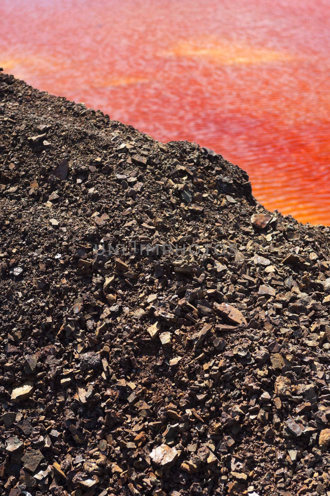
<instances>
[{"instance_id":1,"label":"sloping heap of dark brown broken gravel beside red water","mask_svg":"<svg viewBox=\"0 0 330 496\"><path fill-rule=\"evenodd\" d=\"M329 228L3 73L0 130L1 495L330 495Z\"/></svg>"}]
</instances>

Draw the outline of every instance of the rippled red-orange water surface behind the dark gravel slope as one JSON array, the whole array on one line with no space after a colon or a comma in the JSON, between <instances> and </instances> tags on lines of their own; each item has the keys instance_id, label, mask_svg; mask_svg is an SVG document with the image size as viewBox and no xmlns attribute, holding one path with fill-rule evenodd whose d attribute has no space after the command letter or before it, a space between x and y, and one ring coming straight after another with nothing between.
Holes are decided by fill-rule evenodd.
<instances>
[{"instance_id":1,"label":"rippled red-orange water surface behind the dark gravel slope","mask_svg":"<svg viewBox=\"0 0 330 496\"><path fill-rule=\"evenodd\" d=\"M330 224L329 0L1 0L0 66L248 171Z\"/></svg>"}]
</instances>

